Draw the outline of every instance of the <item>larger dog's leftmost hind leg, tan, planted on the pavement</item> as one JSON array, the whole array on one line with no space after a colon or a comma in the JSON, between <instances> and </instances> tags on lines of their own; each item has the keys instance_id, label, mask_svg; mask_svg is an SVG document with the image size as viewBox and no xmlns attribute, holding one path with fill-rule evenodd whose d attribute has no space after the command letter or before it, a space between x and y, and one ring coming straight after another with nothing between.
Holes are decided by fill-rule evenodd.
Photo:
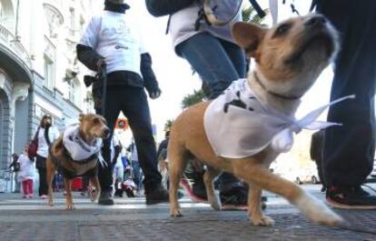
<instances>
[{"instance_id":1,"label":"larger dog's leftmost hind leg, tan, planted on the pavement","mask_svg":"<svg viewBox=\"0 0 376 241\"><path fill-rule=\"evenodd\" d=\"M170 142L168 147L170 171L170 216L182 216L178 203L178 187L188 163L188 153L183 146Z\"/></svg>"}]
</instances>

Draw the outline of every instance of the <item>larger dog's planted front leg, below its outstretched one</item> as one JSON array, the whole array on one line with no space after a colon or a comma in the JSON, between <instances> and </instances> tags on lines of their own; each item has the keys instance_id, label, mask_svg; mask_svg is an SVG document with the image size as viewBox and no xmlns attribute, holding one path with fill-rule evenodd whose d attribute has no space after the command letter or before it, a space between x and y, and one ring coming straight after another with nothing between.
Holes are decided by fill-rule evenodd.
<instances>
[{"instance_id":1,"label":"larger dog's planted front leg, below its outstretched one","mask_svg":"<svg viewBox=\"0 0 376 241\"><path fill-rule=\"evenodd\" d=\"M253 226L273 226L274 220L270 216L262 214L261 196L262 188L260 186L249 184L248 191L248 216Z\"/></svg>"}]
</instances>

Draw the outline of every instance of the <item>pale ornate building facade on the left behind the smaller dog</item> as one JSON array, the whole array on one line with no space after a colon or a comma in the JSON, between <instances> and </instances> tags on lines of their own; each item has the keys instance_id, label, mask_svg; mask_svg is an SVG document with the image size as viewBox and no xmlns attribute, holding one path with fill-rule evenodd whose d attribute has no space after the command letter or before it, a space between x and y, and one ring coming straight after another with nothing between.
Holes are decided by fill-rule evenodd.
<instances>
[{"instance_id":1,"label":"pale ornate building facade on the left behind the smaller dog","mask_svg":"<svg viewBox=\"0 0 376 241\"><path fill-rule=\"evenodd\" d=\"M60 130L92 100L75 45L95 0L0 0L0 169L53 115Z\"/></svg>"}]
</instances>

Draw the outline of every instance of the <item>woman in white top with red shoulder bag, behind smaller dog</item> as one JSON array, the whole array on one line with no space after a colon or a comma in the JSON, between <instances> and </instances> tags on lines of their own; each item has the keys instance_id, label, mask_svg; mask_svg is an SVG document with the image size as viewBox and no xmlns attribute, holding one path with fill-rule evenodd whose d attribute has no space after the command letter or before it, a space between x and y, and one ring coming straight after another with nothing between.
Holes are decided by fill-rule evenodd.
<instances>
[{"instance_id":1,"label":"woman in white top with red shoulder bag, behind smaller dog","mask_svg":"<svg viewBox=\"0 0 376 241\"><path fill-rule=\"evenodd\" d=\"M35 166L39 173L39 196L42 199L45 199L48 194L45 168L45 160L48 156L48 147L60 136L59 131L53 126L52 121L51 115L44 115L35 134L38 140Z\"/></svg>"}]
</instances>

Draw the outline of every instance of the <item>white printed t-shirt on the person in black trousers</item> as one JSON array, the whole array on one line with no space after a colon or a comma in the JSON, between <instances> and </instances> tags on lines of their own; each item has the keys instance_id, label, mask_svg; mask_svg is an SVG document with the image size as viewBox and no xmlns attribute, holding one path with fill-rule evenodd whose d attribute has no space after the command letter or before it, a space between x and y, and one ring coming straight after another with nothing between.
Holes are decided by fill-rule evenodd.
<instances>
[{"instance_id":1,"label":"white printed t-shirt on the person in black trousers","mask_svg":"<svg viewBox=\"0 0 376 241\"><path fill-rule=\"evenodd\" d=\"M104 11L91 19L80 44L104 56L107 73L132 71L141 75L141 55L147 51L135 26L129 15Z\"/></svg>"}]
</instances>

